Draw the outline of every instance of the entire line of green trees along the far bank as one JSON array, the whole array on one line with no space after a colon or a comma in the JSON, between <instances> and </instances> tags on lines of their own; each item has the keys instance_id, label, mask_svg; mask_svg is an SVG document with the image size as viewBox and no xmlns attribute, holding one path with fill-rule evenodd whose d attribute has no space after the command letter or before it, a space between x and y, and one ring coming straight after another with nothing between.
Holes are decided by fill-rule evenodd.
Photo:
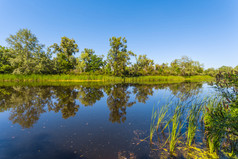
<instances>
[{"instance_id":1,"label":"entire line of green trees along the far bank","mask_svg":"<svg viewBox=\"0 0 238 159\"><path fill-rule=\"evenodd\" d=\"M187 56L173 60L170 64L155 64L144 55L137 55L127 49L127 40L122 37L109 39L107 57L95 54L85 48L79 57L78 44L74 39L62 37L60 44L54 43L45 49L37 37L28 29L20 29L6 39L8 47L0 46L1 74L105 74L121 77L146 75L211 75L218 72L238 71L222 66L218 69L204 69L203 64ZM135 62L132 63L131 59Z\"/></svg>"}]
</instances>

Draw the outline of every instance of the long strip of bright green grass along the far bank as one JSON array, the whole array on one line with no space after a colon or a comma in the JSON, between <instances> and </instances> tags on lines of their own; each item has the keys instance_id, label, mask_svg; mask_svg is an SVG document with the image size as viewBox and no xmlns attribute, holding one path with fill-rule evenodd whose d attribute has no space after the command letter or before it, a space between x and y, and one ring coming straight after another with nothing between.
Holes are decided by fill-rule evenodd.
<instances>
[{"instance_id":1,"label":"long strip of bright green grass along the far bank","mask_svg":"<svg viewBox=\"0 0 238 159\"><path fill-rule=\"evenodd\" d=\"M1 74L0 82L198 82L211 81L211 76L140 76L140 77L115 77L106 75L10 75Z\"/></svg>"}]
</instances>

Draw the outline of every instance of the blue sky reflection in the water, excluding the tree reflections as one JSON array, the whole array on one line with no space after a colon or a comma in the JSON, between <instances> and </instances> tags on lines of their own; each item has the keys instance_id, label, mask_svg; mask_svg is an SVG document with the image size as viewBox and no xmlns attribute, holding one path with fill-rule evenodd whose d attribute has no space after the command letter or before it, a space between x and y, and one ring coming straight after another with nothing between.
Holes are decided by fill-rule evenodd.
<instances>
[{"instance_id":1,"label":"blue sky reflection in the water, excluding the tree reflections","mask_svg":"<svg viewBox=\"0 0 238 159\"><path fill-rule=\"evenodd\" d=\"M12 112L1 112L0 158L112 159L133 155L137 158L149 158L149 156L153 158L148 143L140 143L138 145L137 143L139 138L145 138L149 135L153 107L158 105L158 101L160 101L160 104L167 102L170 99L169 97L172 96L172 90L168 87L163 89L151 87L149 89L152 90L152 94L146 95L146 93L143 94L142 92L142 98L146 99L146 102L143 103L138 102L138 99L136 99L138 90L137 93L133 93L135 87L128 86L125 89L118 87L119 91L128 91L129 98L126 101L127 103L136 101L134 105L126 107L121 117L125 118L124 123L121 119L119 119L121 123L115 122L114 119L112 120L114 122L109 121L110 117L114 117L110 116L113 110L110 110L107 104L110 93L107 94L103 88L98 89L103 90L104 97L100 98L93 106L83 106L78 99L73 99L76 101L75 104L79 105L75 116L63 119L61 111L58 111L58 113L46 111L40 114L39 120L31 128L24 129L19 124L13 124L9 120ZM139 91L145 91L144 88L146 87L140 87L141 90ZM200 92L201 96L211 90L211 86L206 84L202 88L201 85L198 88L196 86L193 87L202 90L202 93ZM80 91L78 88L72 88L72 90ZM179 92L179 89L177 91ZM123 96L122 99L126 99L126 97ZM56 95L52 96L52 101L58 101ZM120 104L116 106L120 106ZM46 108L45 110L48 109ZM115 112L118 113L117 111ZM115 118L118 119L117 116Z\"/></svg>"}]
</instances>

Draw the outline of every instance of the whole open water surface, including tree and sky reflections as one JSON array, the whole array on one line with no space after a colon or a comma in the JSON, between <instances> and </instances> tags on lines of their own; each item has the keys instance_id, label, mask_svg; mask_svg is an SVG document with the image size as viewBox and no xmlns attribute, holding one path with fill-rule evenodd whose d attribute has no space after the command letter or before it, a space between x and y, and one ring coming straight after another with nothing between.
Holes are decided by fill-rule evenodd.
<instances>
[{"instance_id":1,"label":"whole open water surface, including tree and sky reflections","mask_svg":"<svg viewBox=\"0 0 238 159\"><path fill-rule=\"evenodd\" d=\"M0 159L156 158L148 142L154 106L186 100L202 83L1 86Z\"/></svg>"}]
</instances>

